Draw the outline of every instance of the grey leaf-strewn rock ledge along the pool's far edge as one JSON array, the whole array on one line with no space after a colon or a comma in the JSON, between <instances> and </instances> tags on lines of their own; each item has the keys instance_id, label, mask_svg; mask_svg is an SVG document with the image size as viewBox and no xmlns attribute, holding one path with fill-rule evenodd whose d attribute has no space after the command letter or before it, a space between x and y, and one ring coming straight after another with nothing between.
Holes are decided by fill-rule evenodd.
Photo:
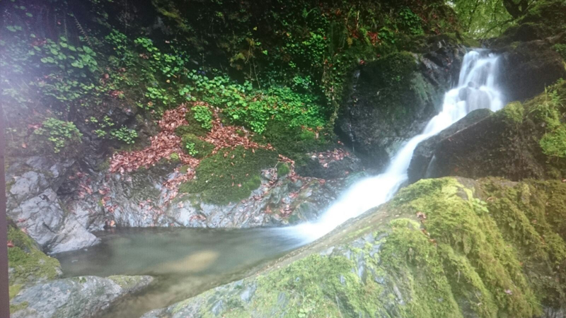
<instances>
[{"instance_id":1,"label":"grey leaf-strewn rock ledge along the pool's far edge","mask_svg":"<svg viewBox=\"0 0 566 318\"><path fill-rule=\"evenodd\" d=\"M122 227L183 226L189 228L253 228L284 226L318 218L343 187L342 180L280 177L272 182L272 172L262 173L262 185L248 199L224 206L208 204L198 194L176 194L163 187L179 172L169 169L144 170L130 175L98 176L88 187L88 197L69 201L73 211L93 211L96 223ZM98 202L103 202L102 205Z\"/></svg>"}]
</instances>

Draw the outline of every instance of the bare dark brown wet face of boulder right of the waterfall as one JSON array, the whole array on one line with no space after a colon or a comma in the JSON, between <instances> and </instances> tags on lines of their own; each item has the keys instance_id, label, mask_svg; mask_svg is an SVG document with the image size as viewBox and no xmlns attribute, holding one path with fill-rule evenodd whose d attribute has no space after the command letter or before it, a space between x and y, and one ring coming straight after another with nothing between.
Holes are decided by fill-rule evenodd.
<instances>
[{"instance_id":1,"label":"bare dark brown wet face of boulder right of the waterfall","mask_svg":"<svg viewBox=\"0 0 566 318\"><path fill-rule=\"evenodd\" d=\"M458 123L469 124L462 121ZM451 126L418 146L409 168L410 181L448 175L542 179L545 158L537 146L495 113L461 129Z\"/></svg>"}]
</instances>

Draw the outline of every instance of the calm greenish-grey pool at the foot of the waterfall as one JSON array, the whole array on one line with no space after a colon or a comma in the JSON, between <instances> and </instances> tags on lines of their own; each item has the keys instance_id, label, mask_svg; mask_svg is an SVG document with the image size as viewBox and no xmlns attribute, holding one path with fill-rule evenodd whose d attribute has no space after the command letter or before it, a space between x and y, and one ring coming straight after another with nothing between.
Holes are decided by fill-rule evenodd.
<instances>
[{"instance_id":1,"label":"calm greenish-grey pool at the foot of the waterfall","mask_svg":"<svg viewBox=\"0 0 566 318\"><path fill-rule=\"evenodd\" d=\"M156 281L98 317L139 318L217 285L244 278L301 242L281 229L114 229L100 245L56 254L66 277L151 275Z\"/></svg>"}]
</instances>

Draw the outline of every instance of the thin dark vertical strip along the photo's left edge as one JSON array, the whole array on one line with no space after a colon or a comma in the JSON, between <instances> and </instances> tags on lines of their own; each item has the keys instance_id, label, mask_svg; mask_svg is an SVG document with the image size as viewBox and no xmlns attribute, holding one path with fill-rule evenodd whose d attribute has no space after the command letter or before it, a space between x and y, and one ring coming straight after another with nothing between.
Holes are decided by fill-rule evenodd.
<instances>
[{"instance_id":1,"label":"thin dark vertical strip along the photo's left edge","mask_svg":"<svg viewBox=\"0 0 566 318\"><path fill-rule=\"evenodd\" d=\"M6 175L4 151L6 128L4 107L0 100L0 318L10 318L10 293L8 291L8 220L6 215Z\"/></svg>"}]
</instances>

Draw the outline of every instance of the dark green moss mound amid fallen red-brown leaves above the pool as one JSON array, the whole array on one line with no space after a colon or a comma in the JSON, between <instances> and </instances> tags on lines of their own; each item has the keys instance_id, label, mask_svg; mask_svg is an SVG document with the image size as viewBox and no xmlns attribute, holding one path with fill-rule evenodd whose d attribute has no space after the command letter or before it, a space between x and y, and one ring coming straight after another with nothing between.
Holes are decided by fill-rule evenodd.
<instances>
[{"instance_id":1,"label":"dark green moss mound amid fallen red-brown leaves above the pool","mask_svg":"<svg viewBox=\"0 0 566 318\"><path fill-rule=\"evenodd\" d=\"M214 204L237 202L250 196L261 184L260 171L275 167L277 154L272 151L220 151L204 158L196 168L196 179L181 184L180 192L201 193L204 201Z\"/></svg>"}]
</instances>

